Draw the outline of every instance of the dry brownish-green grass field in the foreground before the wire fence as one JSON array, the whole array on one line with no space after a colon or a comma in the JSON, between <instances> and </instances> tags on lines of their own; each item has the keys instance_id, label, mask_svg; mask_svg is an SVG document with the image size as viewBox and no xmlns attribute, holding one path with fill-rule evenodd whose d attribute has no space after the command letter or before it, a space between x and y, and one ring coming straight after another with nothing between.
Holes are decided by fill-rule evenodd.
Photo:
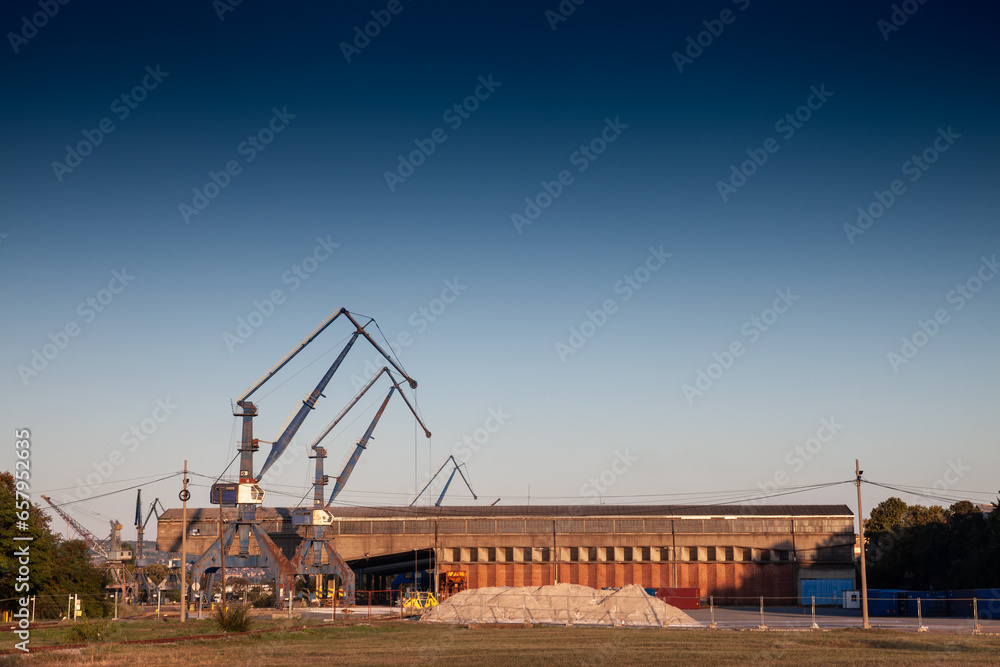
<instances>
[{"instance_id":1,"label":"dry brownish-green grass field in the foreground before the wire fence","mask_svg":"<svg viewBox=\"0 0 1000 667\"><path fill-rule=\"evenodd\" d=\"M111 640L218 632L211 621L119 623ZM292 626L298 629L289 629ZM305 625L306 627L301 627ZM264 621L266 632L170 644L93 643L2 656L12 665L976 665L1000 662L1000 637L886 630L749 632L535 627L481 628L415 621L331 626ZM32 632L32 646L79 639L66 628ZM10 646L13 642L10 642ZM8 648L5 646L4 648Z\"/></svg>"}]
</instances>

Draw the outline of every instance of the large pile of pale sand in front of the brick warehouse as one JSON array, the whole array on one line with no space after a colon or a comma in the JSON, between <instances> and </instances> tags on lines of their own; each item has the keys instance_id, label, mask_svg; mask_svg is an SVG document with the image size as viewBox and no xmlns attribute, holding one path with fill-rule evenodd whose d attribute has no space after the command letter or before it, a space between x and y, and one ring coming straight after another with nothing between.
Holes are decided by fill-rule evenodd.
<instances>
[{"instance_id":1,"label":"large pile of pale sand in front of the brick warehouse","mask_svg":"<svg viewBox=\"0 0 1000 667\"><path fill-rule=\"evenodd\" d=\"M680 609L635 584L599 591L577 584L476 588L457 593L425 612L438 623L539 623L700 628Z\"/></svg>"}]
</instances>

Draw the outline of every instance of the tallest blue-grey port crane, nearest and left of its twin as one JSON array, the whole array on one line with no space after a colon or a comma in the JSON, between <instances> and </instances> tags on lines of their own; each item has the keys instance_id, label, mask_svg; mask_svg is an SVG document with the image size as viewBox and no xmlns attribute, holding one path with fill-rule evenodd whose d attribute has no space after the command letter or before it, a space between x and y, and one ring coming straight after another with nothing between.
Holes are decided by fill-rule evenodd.
<instances>
[{"instance_id":1,"label":"tallest blue-grey port crane, nearest and left of its twin","mask_svg":"<svg viewBox=\"0 0 1000 667\"><path fill-rule=\"evenodd\" d=\"M354 332L351 334L350 340L348 340L333 364L331 364L320 379L316 388L303 399L302 406L289 421L284 431L273 441L271 450L268 452L260 471L254 473L253 457L254 452L260 447L260 441L254 437L253 430L253 419L257 416L257 406L250 401L250 398L341 316L349 320L354 326ZM297 571L298 568L285 557L281 549L274 544L257 520L257 507L264 502L265 496L265 492L260 487L259 481L291 443L292 438L298 432L309 413L316 408L317 402L323 396L324 389L333 378L334 373L337 372L337 369L340 368L347 353L359 337L364 337L386 359L388 365L403 377L411 388L416 388L417 381L407 375L399 364L379 346L365 329L372 322L374 320L369 319L367 323L362 325L354 313L349 312L346 308L339 308L236 400L237 407L233 411L233 416L242 420L242 433L239 446L239 482L216 482L212 485L210 494L212 504L218 504L223 507L235 507L236 520L223 528L215 542L195 562L191 572L192 582L200 581L202 575L214 572L218 568L259 567L264 568L274 576L276 582L279 584L279 590L282 588L291 590L295 575L299 573ZM397 387L398 385L394 383L393 389ZM339 559L339 556L337 558ZM343 563L343 561L340 560L340 563ZM345 593L348 590L353 592L353 572L347 568L346 564L341 566L340 563L336 564L337 569L346 570L346 572L341 572L345 579ZM349 576L348 573L350 573Z\"/></svg>"}]
</instances>

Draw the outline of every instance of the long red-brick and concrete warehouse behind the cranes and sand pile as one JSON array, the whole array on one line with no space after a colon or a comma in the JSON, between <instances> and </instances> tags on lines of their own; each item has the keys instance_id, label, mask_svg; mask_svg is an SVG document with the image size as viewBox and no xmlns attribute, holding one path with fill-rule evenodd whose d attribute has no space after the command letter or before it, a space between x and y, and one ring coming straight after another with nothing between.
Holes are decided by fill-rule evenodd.
<instances>
[{"instance_id":1,"label":"long red-brick and concrete warehouse behind the cranes and sand pile","mask_svg":"<svg viewBox=\"0 0 1000 667\"><path fill-rule=\"evenodd\" d=\"M574 583L697 588L717 604L798 603L855 588L854 515L846 505L530 505L336 507L334 546L358 590L403 572L467 573L469 586ZM236 519L223 510L224 521ZM291 510L258 519L291 558L306 528ZM218 535L218 508L188 510L188 549ZM159 518L157 549L180 551L181 511ZM190 557L189 557L190 558ZM827 600L827 602L832 602Z\"/></svg>"}]
</instances>

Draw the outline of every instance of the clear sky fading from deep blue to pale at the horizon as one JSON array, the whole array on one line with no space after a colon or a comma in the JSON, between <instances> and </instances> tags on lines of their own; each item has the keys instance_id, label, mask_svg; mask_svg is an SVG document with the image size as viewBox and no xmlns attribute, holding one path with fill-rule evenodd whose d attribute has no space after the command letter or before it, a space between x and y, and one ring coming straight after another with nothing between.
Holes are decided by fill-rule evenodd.
<instances>
[{"instance_id":1,"label":"clear sky fading from deep blue to pale at the horizon","mask_svg":"<svg viewBox=\"0 0 1000 667\"><path fill-rule=\"evenodd\" d=\"M32 489L55 498L184 459L217 475L230 402L344 306L407 341L434 433L394 399L348 503L409 502L450 453L480 503L747 500L850 479L856 458L989 499L965 490L1000 488L996 8L928 3L896 30L888 2L674 4L563 21L554 0L221 20L71 3L43 21L7 3L2 467L29 428ZM369 360L359 344L267 504L308 492L306 449ZM267 385L261 439L323 371L304 365ZM330 474L370 396L326 442ZM134 491L69 508L103 534Z\"/></svg>"}]
</instances>

